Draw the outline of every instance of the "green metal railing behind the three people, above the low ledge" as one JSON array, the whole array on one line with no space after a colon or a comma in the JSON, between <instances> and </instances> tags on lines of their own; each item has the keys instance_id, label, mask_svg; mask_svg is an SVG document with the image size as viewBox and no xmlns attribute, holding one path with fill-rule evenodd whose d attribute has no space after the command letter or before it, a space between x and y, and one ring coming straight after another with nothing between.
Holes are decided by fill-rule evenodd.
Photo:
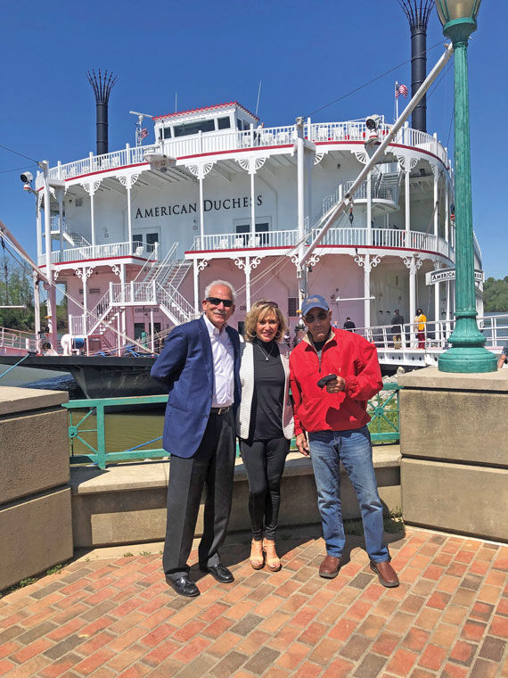
<instances>
[{"instance_id":1,"label":"green metal railing behind the three people, above the low ledge","mask_svg":"<svg viewBox=\"0 0 508 678\"><path fill-rule=\"evenodd\" d=\"M398 429L398 392L400 386L397 384L385 384L384 392L391 392L387 398L381 398L376 395L372 401L368 402L367 411L371 415L369 430L373 443L397 442L399 438ZM118 446L122 447L122 426L129 423L132 430L136 433L146 434L148 426L136 426L142 420L146 424L148 415L142 412L131 414L140 406L161 407L168 401L167 395L149 395L133 398L99 398L94 400L70 401L62 405L69 412L69 438L70 438L70 463L71 464L94 464L104 469L107 464L130 461L135 459L160 459L168 457L168 452L160 446L162 436L163 414L160 412L159 418L152 416L152 433L155 437L144 442L139 442L128 449L115 450ZM111 412L111 408L114 409ZM118 410L127 409L127 413L118 414ZM116 428L113 427L110 435L107 435L107 421L112 421L117 417L123 418L116 422ZM134 434L133 434L134 435ZM291 441L291 448L294 448L294 439ZM237 447L237 456L239 450Z\"/></svg>"}]
</instances>

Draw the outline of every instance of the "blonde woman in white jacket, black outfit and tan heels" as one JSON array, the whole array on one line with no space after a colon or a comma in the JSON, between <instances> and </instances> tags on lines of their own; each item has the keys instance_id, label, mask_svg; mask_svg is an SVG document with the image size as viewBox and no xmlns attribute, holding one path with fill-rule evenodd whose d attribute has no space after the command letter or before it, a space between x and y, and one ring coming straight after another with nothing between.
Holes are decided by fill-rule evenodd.
<instances>
[{"instance_id":1,"label":"blonde woman in white jacket, black outfit and tan heels","mask_svg":"<svg viewBox=\"0 0 508 678\"><path fill-rule=\"evenodd\" d=\"M240 380L242 401L237 414L240 451L249 480L252 530L250 565L281 569L275 531L281 478L294 432L289 386L289 359L279 350L286 318L275 302L254 303L245 318Z\"/></svg>"}]
</instances>

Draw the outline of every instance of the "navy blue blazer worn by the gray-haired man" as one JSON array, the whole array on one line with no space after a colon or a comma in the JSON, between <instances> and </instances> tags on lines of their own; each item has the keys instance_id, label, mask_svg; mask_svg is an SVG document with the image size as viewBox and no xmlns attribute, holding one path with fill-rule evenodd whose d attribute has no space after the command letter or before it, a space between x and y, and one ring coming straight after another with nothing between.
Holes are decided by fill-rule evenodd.
<instances>
[{"instance_id":1,"label":"navy blue blazer worn by the gray-haired man","mask_svg":"<svg viewBox=\"0 0 508 678\"><path fill-rule=\"evenodd\" d=\"M234 348L234 414L240 403L240 336L225 327ZM162 447L188 459L197 451L209 420L214 369L203 318L175 327L152 366L152 378L168 389Z\"/></svg>"}]
</instances>

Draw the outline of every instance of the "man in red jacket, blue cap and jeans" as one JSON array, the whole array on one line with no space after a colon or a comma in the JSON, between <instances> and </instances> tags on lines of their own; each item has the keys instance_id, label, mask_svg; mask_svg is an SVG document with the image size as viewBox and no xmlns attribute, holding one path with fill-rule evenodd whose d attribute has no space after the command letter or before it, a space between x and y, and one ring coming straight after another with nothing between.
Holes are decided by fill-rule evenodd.
<instances>
[{"instance_id":1,"label":"man in red jacket, blue cap and jeans","mask_svg":"<svg viewBox=\"0 0 508 678\"><path fill-rule=\"evenodd\" d=\"M346 542L340 509L341 460L360 504L371 568L383 586L398 586L383 543L382 505L367 429L367 400L382 388L375 346L332 327L332 311L319 294L307 297L301 315L307 335L291 352L291 392L296 442L302 454L308 456L310 451L323 522L326 557L319 575L329 579L338 575ZM317 382L328 375L334 377L320 387Z\"/></svg>"}]
</instances>

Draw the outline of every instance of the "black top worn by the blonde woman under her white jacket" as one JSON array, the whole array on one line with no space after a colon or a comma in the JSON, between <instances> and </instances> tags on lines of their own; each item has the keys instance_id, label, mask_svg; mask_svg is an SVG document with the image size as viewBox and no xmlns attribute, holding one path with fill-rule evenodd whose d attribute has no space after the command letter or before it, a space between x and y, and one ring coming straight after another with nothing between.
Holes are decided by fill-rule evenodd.
<instances>
[{"instance_id":1,"label":"black top worn by the blonde woman under her white jacket","mask_svg":"<svg viewBox=\"0 0 508 678\"><path fill-rule=\"evenodd\" d=\"M254 393L249 440L283 438L285 373L279 346L274 341L263 342L256 337L253 350Z\"/></svg>"}]
</instances>

